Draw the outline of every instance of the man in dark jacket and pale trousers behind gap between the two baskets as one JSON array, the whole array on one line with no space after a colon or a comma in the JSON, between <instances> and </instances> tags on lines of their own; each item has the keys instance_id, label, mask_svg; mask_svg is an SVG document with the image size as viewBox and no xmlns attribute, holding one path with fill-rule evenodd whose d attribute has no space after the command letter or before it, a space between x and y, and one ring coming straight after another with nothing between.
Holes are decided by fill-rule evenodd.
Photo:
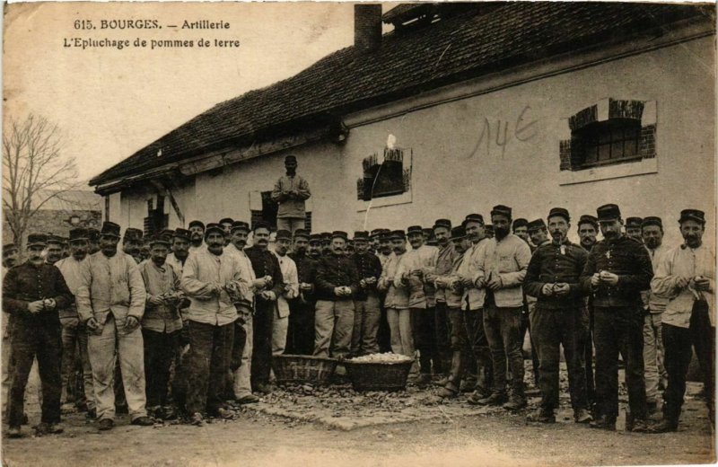
<instances>
[{"instance_id":1,"label":"man in dark jacket and pale trousers behind gap between the two baskets","mask_svg":"<svg viewBox=\"0 0 718 467\"><path fill-rule=\"evenodd\" d=\"M354 299L359 292L359 273L345 254L346 233L331 234L331 253L317 265L314 315L316 357L346 357L352 345Z\"/></svg>"}]
</instances>

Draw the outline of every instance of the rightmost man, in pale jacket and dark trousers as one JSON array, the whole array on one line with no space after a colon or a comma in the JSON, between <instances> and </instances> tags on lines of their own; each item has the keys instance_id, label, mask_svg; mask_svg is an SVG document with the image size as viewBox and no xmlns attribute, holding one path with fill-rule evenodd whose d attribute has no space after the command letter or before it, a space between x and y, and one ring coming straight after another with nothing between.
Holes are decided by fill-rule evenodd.
<instances>
[{"instance_id":1,"label":"rightmost man, in pale jacket and dark trousers","mask_svg":"<svg viewBox=\"0 0 718 467\"><path fill-rule=\"evenodd\" d=\"M655 432L678 430L691 346L703 373L708 419L715 425L715 253L703 243L703 211L682 210L679 225L684 242L666 252L651 282L653 293L670 297L662 314L668 387Z\"/></svg>"}]
</instances>

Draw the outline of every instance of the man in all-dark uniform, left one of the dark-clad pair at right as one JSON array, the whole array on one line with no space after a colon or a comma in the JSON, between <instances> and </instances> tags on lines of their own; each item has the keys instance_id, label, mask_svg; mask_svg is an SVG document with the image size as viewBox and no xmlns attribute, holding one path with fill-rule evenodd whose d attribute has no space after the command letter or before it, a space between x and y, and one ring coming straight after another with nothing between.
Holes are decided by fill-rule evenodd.
<instances>
[{"instance_id":1,"label":"man in all-dark uniform, left one of the dark-clad pair at right","mask_svg":"<svg viewBox=\"0 0 718 467\"><path fill-rule=\"evenodd\" d=\"M541 389L540 408L527 419L542 423L556 421L559 348L563 347L574 421L589 423L591 414L582 355L588 316L579 281L588 253L568 241L571 218L566 209L552 208L547 220L553 241L534 251L523 282L526 294L538 298L530 318L532 340L540 359L538 386Z\"/></svg>"}]
</instances>

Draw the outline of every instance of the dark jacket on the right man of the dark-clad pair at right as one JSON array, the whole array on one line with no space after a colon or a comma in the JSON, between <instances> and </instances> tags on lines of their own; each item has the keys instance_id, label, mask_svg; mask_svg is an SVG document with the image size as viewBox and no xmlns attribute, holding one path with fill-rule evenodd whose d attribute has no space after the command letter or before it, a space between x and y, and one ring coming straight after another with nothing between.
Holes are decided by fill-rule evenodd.
<instances>
[{"instance_id":1,"label":"dark jacket on the right man of the dark-clad pair at right","mask_svg":"<svg viewBox=\"0 0 718 467\"><path fill-rule=\"evenodd\" d=\"M591 286L591 276L606 270L618 276L616 286ZM593 295L593 306L641 306L641 291L651 285L653 268L644 244L627 235L593 245L581 275L584 292Z\"/></svg>"}]
</instances>

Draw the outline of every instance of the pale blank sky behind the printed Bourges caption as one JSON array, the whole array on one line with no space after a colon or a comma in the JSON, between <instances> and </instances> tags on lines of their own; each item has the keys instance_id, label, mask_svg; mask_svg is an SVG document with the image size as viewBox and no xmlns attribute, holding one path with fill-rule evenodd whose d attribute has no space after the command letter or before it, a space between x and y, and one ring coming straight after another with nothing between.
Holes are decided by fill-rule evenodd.
<instances>
[{"instance_id":1,"label":"pale blank sky behind the printed Bourges caption","mask_svg":"<svg viewBox=\"0 0 718 467\"><path fill-rule=\"evenodd\" d=\"M75 29L86 20L96 29ZM154 20L162 29L102 29L103 20ZM169 27L185 20L229 22L230 29ZM216 103L351 45L353 21L352 4L5 5L4 123L30 112L57 123L64 154L86 181ZM140 38L147 47L65 47L75 38ZM213 47L197 48L200 38ZM214 39L240 40L240 47L216 48ZM195 47L150 49L151 40L194 40Z\"/></svg>"}]
</instances>

